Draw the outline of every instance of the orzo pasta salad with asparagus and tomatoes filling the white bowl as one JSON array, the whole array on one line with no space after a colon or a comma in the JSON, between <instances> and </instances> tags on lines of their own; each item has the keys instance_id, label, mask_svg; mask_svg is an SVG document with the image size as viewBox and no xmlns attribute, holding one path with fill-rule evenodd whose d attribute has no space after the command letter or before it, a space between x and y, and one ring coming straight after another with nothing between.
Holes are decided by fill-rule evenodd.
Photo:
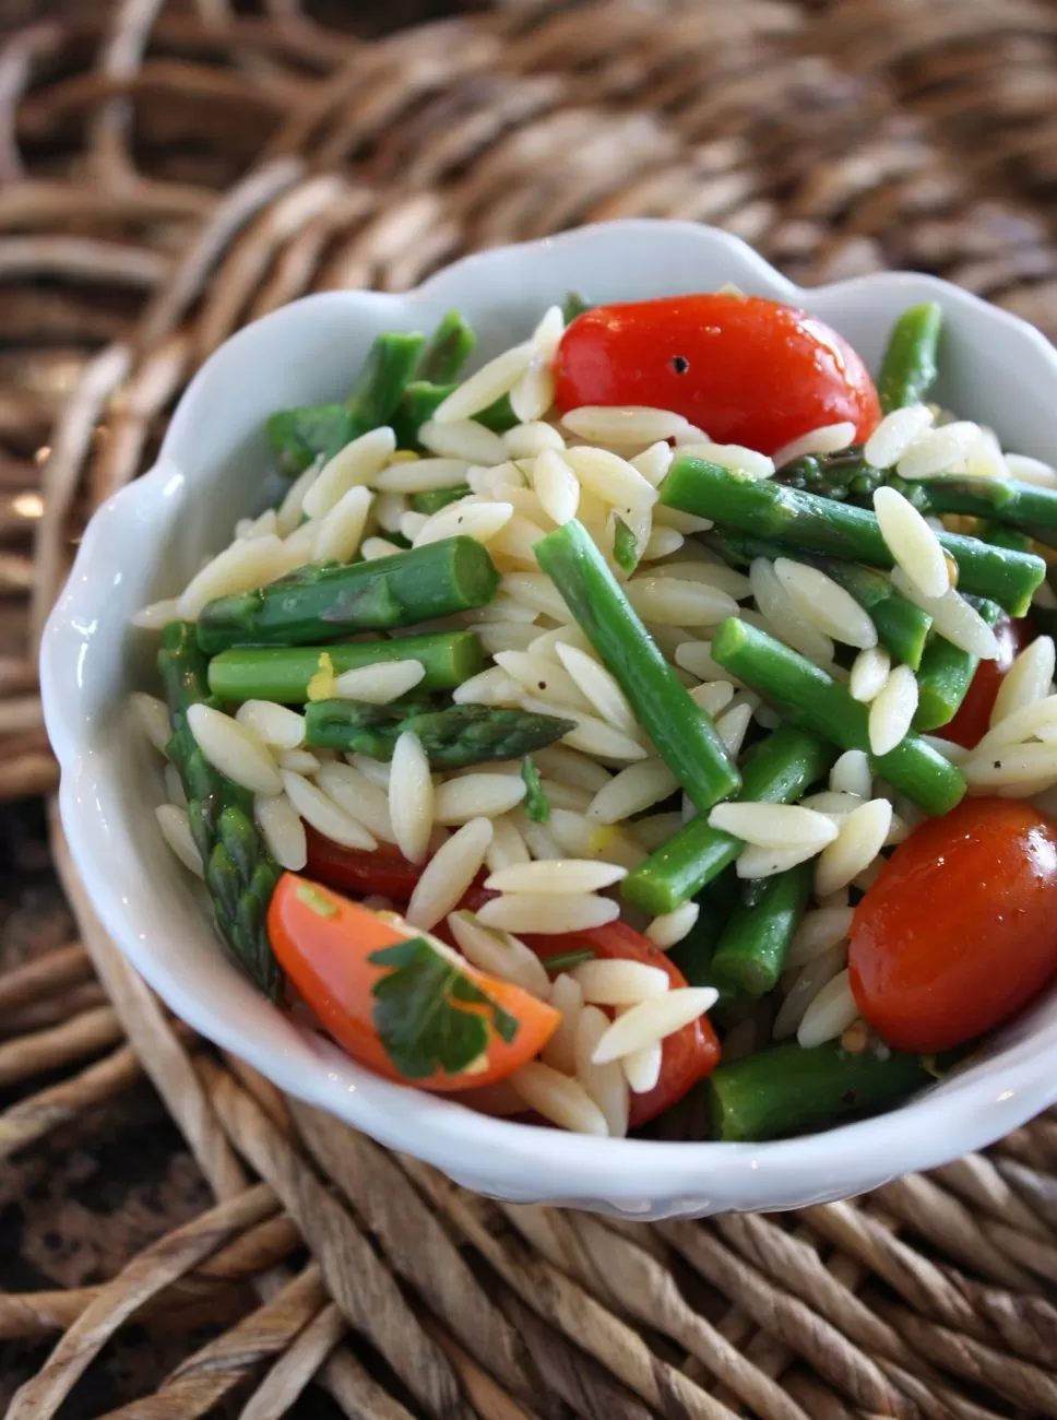
<instances>
[{"instance_id":1,"label":"orzo pasta salad with asparagus and tomatoes filling the white bowl","mask_svg":"<svg viewBox=\"0 0 1057 1420\"><path fill-rule=\"evenodd\" d=\"M1057 967L1057 474L736 290L457 314L277 412L173 601L157 824L356 1061L768 1139L958 1068ZM966 413L972 413L968 410Z\"/></svg>"}]
</instances>

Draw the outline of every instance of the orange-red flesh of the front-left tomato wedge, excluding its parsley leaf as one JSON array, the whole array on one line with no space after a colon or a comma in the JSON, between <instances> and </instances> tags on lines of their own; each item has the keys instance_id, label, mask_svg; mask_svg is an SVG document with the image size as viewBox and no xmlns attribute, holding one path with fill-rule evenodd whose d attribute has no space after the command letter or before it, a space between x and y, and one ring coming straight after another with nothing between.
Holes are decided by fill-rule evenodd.
<instances>
[{"instance_id":1,"label":"orange-red flesh of the front-left tomato wedge, excluding its parsley leaf","mask_svg":"<svg viewBox=\"0 0 1057 1420\"><path fill-rule=\"evenodd\" d=\"M375 985L393 974L370 961L370 956L414 936L413 929L396 924L389 914L369 912L359 903L295 873L284 873L268 906L268 937L280 966L291 978L318 1020L333 1038L359 1061L386 1079L404 1079L393 1064L375 1022ZM434 1075L414 1083L423 1089L478 1089L504 1079L531 1061L553 1035L560 1015L553 1007L499 981L487 973L460 963L460 971L487 997L487 1003L446 995L444 1005L494 1021L492 1005L507 1011L516 1022L509 1041L495 1028L488 1032L485 1052L472 1071ZM433 1005L421 1001L421 985L409 991L409 1003L421 1011L430 1025Z\"/></svg>"}]
</instances>

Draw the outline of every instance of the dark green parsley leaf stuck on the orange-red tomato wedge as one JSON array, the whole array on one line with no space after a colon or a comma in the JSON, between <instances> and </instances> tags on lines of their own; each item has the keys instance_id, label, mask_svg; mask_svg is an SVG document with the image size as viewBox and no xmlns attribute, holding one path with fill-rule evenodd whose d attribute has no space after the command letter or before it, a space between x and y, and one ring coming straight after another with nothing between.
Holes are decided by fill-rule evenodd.
<instances>
[{"instance_id":1,"label":"dark green parsley leaf stuck on the orange-red tomato wedge","mask_svg":"<svg viewBox=\"0 0 1057 1420\"><path fill-rule=\"evenodd\" d=\"M373 1020L379 1039L404 1079L437 1071L458 1075L488 1049L491 1028L509 1042L518 1021L424 937L373 951L367 961L392 970L375 983ZM488 1015L461 1010L485 1005Z\"/></svg>"}]
</instances>

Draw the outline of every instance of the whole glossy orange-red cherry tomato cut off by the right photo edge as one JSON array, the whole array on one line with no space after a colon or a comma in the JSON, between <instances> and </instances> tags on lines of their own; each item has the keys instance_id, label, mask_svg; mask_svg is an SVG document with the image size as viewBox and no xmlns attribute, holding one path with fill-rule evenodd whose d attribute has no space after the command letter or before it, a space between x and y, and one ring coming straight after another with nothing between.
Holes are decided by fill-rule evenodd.
<instances>
[{"instance_id":1,"label":"whole glossy orange-red cherry tomato cut off by the right photo edge","mask_svg":"<svg viewBox=\"0 0 1057 1420\"><path fill-rule=\"evenodd\" d=\"M848 968L897 1049L949 1049L1014 1015L1057 970L1057 824L999 798L928 819L856 909Z\"/></svg>"}]
</instances>

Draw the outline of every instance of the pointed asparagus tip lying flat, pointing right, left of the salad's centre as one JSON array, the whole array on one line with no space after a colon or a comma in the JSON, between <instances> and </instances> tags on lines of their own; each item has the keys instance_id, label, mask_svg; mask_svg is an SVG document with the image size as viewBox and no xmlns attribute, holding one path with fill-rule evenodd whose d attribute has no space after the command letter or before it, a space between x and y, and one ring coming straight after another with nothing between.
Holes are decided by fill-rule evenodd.
<instances>
[{"instance_id":1,"label":"pointed asparagus tip lying flat, pointing right, left of the salad's centre","mask_svg":"<svg viewBox=\"0 0 1057 1420\"><path fill-rule=\"evenodd\" d=\"M421 740L430 764L457 770L489 760L516 760L576 728L572 720L498 706L421 701L372 706L359 700L315 700L305 707L305 741L321 750L367 754L389 761L404 730Z\"/></svg>"}]
</instances>

